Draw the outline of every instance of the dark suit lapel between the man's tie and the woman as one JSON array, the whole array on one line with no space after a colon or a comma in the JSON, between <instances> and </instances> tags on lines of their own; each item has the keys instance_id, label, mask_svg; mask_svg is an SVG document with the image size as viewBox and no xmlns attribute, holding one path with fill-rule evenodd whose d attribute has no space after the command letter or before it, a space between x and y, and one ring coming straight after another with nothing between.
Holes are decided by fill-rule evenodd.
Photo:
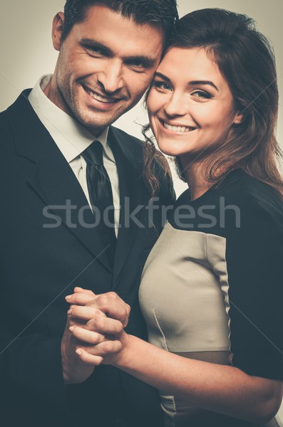
<instances>
[{"instance_id":1,"label":"dark suit lapel between the man's tie and the woman","mask_svg":"<svg viewBox=\"0 0 283 427\"><path fill-rule=\"evenodd\" d=\"M143 211L139 206L143 205L145 186L142 177L143 150L140 144L115 127L110 127L108 137L117 164L120 187L120 228L113 271L115 284L135 241ZM130 214L135 210L135 221L132 221Z\"/></svg>"}]
</instances>

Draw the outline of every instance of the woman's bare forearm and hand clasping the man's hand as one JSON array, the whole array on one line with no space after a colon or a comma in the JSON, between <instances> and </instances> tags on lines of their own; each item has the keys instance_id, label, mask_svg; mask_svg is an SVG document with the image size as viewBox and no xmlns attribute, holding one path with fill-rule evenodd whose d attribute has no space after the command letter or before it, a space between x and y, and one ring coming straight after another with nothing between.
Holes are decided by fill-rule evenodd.
<instances>
[{"instance_id":1,"label":"woman's bare forearm and hand clasping the man's hand","mask_svg":"<svg viewBox=\"0 0 283 427\"><path fill-rule=\"evenodd\" d=\"M95 307L93 302L91 307L73 307L71 315L78 322L72 334L78 343L83 343L83 347L77 347L77 354L86 367L113 364L193 406L252 423L267 423L277 413L282 400L281 381L250 376L236 367L181 357L128 335L120 320L110 319L98 309L105 308L105 302L112 299L121 306L109 304L109 314L113 310L117 314L118 310L120 318L125 319L127 307L115 295L108 295ZM79 319L87 320L85 327L79 325Z\"/></svg>"}]
</instances>

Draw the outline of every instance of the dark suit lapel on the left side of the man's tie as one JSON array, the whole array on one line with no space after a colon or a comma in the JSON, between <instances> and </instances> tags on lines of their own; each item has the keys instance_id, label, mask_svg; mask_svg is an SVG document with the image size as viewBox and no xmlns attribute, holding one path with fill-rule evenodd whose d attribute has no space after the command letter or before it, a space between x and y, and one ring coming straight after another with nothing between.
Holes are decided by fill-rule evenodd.
<instances>
[{"instance_id":1,"label":"dark suit lapel on the left side of the man's tie","mask_svg":"<svg viewBox=\"0 0 283 427\"><path fill-rule=\"evenodd\" d=\"M73 233L104 267L111 270L105 245L95 227L95 218L81 185L26 100L28 94L29 92L21 94L7 110L7 115L14 132L17 154L35 162L29 186L50 211L61 218L68 231ZM68 217L67 211L71 212L71 218Z\"/></svg>"}]
</instances>

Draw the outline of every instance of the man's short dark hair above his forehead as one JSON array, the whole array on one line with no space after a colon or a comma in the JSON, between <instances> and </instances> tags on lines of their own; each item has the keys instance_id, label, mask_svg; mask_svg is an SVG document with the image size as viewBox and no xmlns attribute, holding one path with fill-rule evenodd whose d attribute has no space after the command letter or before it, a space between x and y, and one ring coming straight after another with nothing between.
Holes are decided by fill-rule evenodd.
<instances>
[{"instance_id":1,"label":"man's short dark hair above his forehead","mask_svg":"<svg viewBox=\"0 0 283 427\"><path fill-rule=\"evenodd\" d=\"M75 23L86 19L88 9L96 5L106 6L140 25L161 28L164 44L178 19L176 0L66 0L62 40L68 36Z\"/></svg>"}]
</instances>

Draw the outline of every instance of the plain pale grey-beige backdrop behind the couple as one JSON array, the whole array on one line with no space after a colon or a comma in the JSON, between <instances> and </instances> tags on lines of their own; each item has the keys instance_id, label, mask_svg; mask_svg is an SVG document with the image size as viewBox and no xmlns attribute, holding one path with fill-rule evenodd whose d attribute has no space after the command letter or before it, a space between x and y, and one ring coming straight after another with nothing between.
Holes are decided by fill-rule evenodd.
<instances>
[{"instance_id":1,"label":"plain pale grey-beige backdrop behind the couple","mask_svg":"<svg viewBox=\"0 0 283 427\"><path fill-rule=\"evenodd\" d=\"M2 0L0 6L0 110L18 97L21 90L34 86L38 78L52 73L57 52L51 43L51 23L64 0ZM273 43L277 58L279 91L283 96L282 15L283 0L179 0L180 16L195 9L220 7L252 16ZM281 101L282 102L282 101ZM283 107L280 106L278 139L283 147ZM147 121L142 102L121 117L116 125L140 137L140 123ZM177 194L185 184L175 178ZM283 406L280 410L283 419Z\"/></svg>"}]
</instances>

